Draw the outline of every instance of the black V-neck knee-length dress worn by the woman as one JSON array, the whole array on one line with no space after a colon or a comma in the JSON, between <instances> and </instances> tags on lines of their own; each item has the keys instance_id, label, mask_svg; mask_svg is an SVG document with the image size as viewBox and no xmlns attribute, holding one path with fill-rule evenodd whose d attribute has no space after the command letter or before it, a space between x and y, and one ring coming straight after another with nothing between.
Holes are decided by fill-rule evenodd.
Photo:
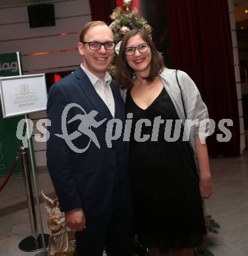
<instances>
[{"instance_id":1,"label":"black V-neck knee-length dress worn by the woman","mask_svg":"<svg viewBox=\"0 0 248 256\"><path fill-rule=\"evenodd\" d=\"M188 141L180 137L175 142L164 139L166 120L172 119L171 137L177 112L166 89L143 110L130 95L126 97L126 114L133 113L130 137L130 178L132 184L135 232L141 242L160 251L192 248L202 243L205 234L204 213L194 154ZM161 116L158 140L150 136L145 142L134 138L135 123L139 119ZM142 126L143 135L152 135L152 125Z\"/></svg>"}]
</instances>

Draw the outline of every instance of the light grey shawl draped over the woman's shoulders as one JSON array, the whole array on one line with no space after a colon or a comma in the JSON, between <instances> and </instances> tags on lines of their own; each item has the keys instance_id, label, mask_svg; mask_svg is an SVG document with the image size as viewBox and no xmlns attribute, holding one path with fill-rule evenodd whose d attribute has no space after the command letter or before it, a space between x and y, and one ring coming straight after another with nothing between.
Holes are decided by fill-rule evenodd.
<instances>
[{"instance_id":1,"label":"light grey shawl draped over the woman's shoulders","mask_svg":"<svg viewBox=\"0 0 248 256\"><path fill-rule=\"evenodd\" d=\"M164 84L164 88L168 92L171 100L175 106L175 110L177 111L177 115L179 119L185 121L185 114L183 110L183 102L181 100L181 92L179 86L177 85L177 79L175 77L175 70L170 70L168 68L164 68L162 73L159 74L162 79L162 83ZM190 144L195 152L194 147L194 135L199 136L199 127L200 122L204 119L209 119L207 106L202 100L202 97L196 87L196 84L185 72L178 70L177 77L179 79L179 84L181 85L183 100L185 104L186 117L187 120L198 119L198 124L192 126L192 129L187 129L186 133L189 136ZM126 89L121 92L122 98L124 101L126 100Z\"/></svg>"}]
</instances>

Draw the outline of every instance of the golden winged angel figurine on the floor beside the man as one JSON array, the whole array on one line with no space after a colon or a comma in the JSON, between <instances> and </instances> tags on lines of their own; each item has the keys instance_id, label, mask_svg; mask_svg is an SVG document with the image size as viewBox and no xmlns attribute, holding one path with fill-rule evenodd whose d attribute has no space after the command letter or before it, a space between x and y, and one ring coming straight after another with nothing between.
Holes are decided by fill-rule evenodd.
<instances>
[{"instance_id":1,"label":"golden winged angel figurine on the floor beside the man","mask_svg":"<svg viewBox=\"0 0 248 256\"><path fill-rule=\"evenodd\" d=\"M54 256L57 252L73 251L73 245L69 241L65 226L65 214L60 211L58 198L52 200L43 191L41 194L43 196L44 207L48 214L47 225L52 232L48 243L49 255Z\"/></svg>"}]
</instances>

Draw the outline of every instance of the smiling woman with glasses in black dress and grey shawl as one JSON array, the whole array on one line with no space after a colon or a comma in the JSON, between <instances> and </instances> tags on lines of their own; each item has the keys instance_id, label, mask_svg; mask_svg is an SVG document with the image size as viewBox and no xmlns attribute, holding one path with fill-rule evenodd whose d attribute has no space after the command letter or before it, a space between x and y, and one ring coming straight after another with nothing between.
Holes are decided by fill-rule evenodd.
<instances>
[{"instance_id":1,"label":"smiling woman with glasses in black dress and grey shawl","mask_svg":"<svg viewBox=\"0 0 248 256\"><path fill-rule=\"evenodd\" d=\"M152 255L194 255L206 232L202 199L213 192L199 125L188 129L188 140L182 125L185 119L208 118L207 108L190 77L181 71L177 77L182 92L175 70L164 68L147 33L126 33L116 60L116 79L128 89L126 114L132 121L135 234L152 247Z\"/></svg>"}]
</instances>

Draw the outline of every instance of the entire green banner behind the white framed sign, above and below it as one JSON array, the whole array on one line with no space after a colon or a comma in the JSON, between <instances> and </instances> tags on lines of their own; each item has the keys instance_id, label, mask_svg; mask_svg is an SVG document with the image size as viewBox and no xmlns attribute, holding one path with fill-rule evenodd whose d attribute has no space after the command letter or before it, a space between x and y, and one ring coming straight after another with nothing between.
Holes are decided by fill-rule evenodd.
<instances>
[{"instance_id":1,"label":"entire green banner behind the white framed sign, above and below it","mask_svg":"<svg viewBox=\"0 0 248 256\"><path fill-rule=\"evenodd\" d=\"M0 54L0 76L20 75L18 67L18 53L4 53ZM3 112L0 104L0 177L5 177L9 174L10 167L16 154L22 146L22 141L16 138L16 127L18 121L24 116L10 117L3 119ZM22 167L20 160L16 165L15 174L21 173Z\"/></svg>"}]
</instances>

